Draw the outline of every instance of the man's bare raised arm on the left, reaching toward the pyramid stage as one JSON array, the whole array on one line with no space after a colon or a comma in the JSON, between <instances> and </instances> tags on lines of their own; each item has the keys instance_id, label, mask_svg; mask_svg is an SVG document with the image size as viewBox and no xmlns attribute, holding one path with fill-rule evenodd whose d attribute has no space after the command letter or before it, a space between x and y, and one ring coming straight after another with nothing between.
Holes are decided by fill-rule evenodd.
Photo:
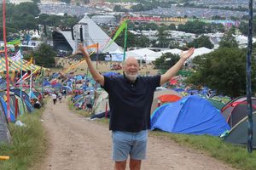
<instances>
[{"instance_id":1,"label":"man's bare raised arm on the left, reaching toward the pyramid stage","mask_svg":"<svg viewBox=\"0 0 256 170\"><path fill-rule=\"evenodd\" d=\"M88 54L87 51L85 51L85 49L81 43L79 43L79 50L84 55L84 58L86 60L90 74L93 77L93 79L96 82L99 82L102 86L104 86L104 77L98 71L96 71L96 69L94 68L94 66L92 65L92 62L90 60L90 55Z\"/></svg>"}]
</instances>

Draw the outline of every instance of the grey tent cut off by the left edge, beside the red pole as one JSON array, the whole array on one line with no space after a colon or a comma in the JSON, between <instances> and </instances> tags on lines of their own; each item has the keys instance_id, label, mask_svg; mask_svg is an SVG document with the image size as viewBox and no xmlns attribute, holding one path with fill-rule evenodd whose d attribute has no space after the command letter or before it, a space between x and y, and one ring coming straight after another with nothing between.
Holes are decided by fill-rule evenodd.
<instances>
[{"instance_id":1,"label":"grey tent cut off by the left edge, beside the red pole","mask_svg":"<svg viewBox=\"0 0 256 170\"><path fill-rule=\"evenodd\" d=\"M10 133L7 125L7 117L4 114L3 105L0 102L0 143L10 143Z\"/></svg>"}]
</instances>

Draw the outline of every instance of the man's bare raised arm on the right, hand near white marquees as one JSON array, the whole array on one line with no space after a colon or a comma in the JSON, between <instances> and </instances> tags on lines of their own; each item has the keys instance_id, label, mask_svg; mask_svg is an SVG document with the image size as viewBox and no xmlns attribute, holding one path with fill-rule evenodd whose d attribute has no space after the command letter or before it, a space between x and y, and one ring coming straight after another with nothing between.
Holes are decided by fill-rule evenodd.
<instances>
[{"instance_id":1,"label":"man's bare raised arm on the right, hand near white marquees","mask_svg":"<svg viewBox=\"0 0 256 170\"><path fill-rule=\"evenodd\" d=\"M172 68L170 68L168 71L166 71L165 74L161 75L160 85L171 80L171 78L176 75L177 71L179 71L179 69L183 66L184 62L187 59L189 59L189 57L192 54L194 54L194 50L195 50L195 48L189 48L188 52L186 52L186 53L182 52L182 54L180 55L180 59L177 61L177 63L175 65L173 65Z\"/></svg>"}]
</instances>

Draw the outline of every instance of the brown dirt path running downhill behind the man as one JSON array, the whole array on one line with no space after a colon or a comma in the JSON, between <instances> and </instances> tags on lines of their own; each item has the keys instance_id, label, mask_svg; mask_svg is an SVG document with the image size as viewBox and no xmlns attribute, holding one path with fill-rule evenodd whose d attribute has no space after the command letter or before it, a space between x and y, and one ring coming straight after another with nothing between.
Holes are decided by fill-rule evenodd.
<instances>
[{"instance_id":1,"label":"brown dirt path running downhill behind the man","mask_svg":"<svg viewBox=\"0 0 256 170\"><path fill-rule=\"evenodd\" d=\"M68 111L67 102L46 106L44 127L49 135L49 151L41 170L109 170L111 133L101 123L86 120ZM127 168L128 169L128 168ZM183 148L167 139L149 137L144 170L231 170L201 153Z\"/></svg>"}]
</instances>

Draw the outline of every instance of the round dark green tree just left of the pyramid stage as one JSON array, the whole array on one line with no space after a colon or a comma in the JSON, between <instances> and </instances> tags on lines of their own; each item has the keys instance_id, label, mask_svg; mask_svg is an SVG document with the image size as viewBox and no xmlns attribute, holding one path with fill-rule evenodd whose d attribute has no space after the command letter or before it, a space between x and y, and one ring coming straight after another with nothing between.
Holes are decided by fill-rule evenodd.
<instances>
[{"instance_id":1,"label":"round dark green tree just left of the pyramid stage","mask_svg":"<svg viewBox=\"0 0 256 170\"><path fill-rule=\"evenodd\" d=\"M53 50L53 48L51 48L48 44L40 44L38 49L34 51L32 54L35 57L36 65L49 68L55 66L56 53Z\"/></svg>"}]
</instances>

